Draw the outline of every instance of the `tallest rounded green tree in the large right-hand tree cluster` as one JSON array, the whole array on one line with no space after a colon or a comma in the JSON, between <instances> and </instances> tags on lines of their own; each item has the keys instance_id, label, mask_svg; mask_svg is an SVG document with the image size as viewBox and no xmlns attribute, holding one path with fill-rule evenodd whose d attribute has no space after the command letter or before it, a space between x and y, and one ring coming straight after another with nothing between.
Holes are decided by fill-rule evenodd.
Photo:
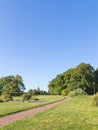
<instances>
[{"instance_id":1,"label":"tallest rounded green tree in the large right-hand tree cluster","mask_svg":"<svg viewBox=\"0 0 98 130\"><path fill-rule=\"evenodd\" d=\"M70 85L74 86L74 89L81 88L88 94L93 94L93 82L94 68L85 63L81 63L76 67L70 79Z\"/></svg>"}]
</instances>

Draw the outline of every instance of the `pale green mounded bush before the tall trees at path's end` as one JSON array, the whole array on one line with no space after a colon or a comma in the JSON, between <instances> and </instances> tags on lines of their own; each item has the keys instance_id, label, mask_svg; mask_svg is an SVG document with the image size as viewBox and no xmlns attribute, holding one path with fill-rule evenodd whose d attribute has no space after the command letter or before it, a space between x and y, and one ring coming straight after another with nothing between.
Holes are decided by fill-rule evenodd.
<instances>
[{"instance_id":1,"label":"pale green mounded bush before the tall trees at path's end","mask_svg":"<svg viewBox=\"0 0 98 130\"><path fill-rule=\"evenodd\" d=\"M68 96L70 97L82 96L82 95L87 95L87 93L82 89L76 89L74 91L70 91L68 94Z\"/></svg>"}]
</instances>

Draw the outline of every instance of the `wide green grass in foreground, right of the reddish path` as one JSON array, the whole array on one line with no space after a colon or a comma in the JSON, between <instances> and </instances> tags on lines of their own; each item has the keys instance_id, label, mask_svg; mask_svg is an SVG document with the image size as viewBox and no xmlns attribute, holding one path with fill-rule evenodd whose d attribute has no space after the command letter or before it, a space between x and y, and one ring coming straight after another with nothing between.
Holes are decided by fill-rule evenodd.
<instances>
[{"instance_id":1,"label":"wide green grass in foreground, right of the reddish path","mask_svg":"<svg viewBox=\"0 0 98 130\"><path fill-rule=\"evenodd\" d=\"M98 107L90 96L75 97L0 130L98 130Z\"/></svg>"}]
</instances>

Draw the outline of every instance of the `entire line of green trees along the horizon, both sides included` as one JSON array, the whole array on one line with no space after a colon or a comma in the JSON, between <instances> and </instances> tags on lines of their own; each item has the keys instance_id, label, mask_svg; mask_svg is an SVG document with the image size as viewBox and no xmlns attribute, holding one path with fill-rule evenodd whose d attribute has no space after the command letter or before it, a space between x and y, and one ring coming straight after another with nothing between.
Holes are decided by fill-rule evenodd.
<instances>
[{"instance_id":1,"label":"entire line of green trees along the horizon, both sides included","mask_svg":"<svg viewBox=\"0 0 98 130\"><path fill-rule=\"evenodd\" d=\"M62 92L69 93L72 90L81 88L87 94L98 92L98 68L86 63L81 63L74 68L58 74L48 84L48 93L37 89L30 89L31 95L60 95ZM5 76L0 78L0 94L11 93L13 96L21 95L26 90L23 79L20 75Z\"/></svg>"}]
</instances>

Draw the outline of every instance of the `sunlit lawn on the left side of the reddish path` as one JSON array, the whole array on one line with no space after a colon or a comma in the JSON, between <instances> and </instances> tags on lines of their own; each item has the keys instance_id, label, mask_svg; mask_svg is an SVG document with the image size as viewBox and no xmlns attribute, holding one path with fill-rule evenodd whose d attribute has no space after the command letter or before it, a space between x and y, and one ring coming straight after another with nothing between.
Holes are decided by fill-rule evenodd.
<instances>
[{"instance_id":1,"label":"sunlit lawn on the left side of the reddish path","mask_svg":"<svg viewBox=\"0 0 98 130\"><path fill-rule=\"evenodd\" d=\"M52 102L56 102L58 100L64 99L63 96L51 96L51 95L43 95L43 96L34 96L35 98L38 98L42 100L41 102L29 102L29 101L21 101L21 97L14 97L14 101L11 102L5 102L0 103L0 117L9 115L12 113L20 112L23 110L32 109L38 106L42 106L45 104L49 104ZM20 101L15 101L20 100Z\"/></svg>"}]
</instances>

